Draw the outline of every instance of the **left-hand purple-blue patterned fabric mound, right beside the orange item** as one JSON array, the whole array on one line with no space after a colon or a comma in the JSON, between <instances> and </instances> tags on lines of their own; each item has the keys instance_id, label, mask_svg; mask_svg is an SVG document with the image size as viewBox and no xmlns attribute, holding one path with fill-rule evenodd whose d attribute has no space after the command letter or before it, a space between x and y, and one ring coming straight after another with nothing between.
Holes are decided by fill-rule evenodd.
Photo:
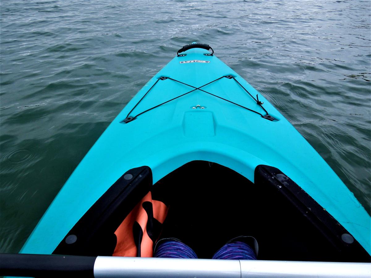
<instances>
[{"instance_id":1,"label":"left-hand purple-blue patterned fabric mound, right beside the orange item","mask_svg":"<svg viewBox=\"0 0 371 278\"><path fill-rule=\"evenodd\" d=\"M155 258L197 259L196 253L187 244L172 239L161 242L154 253Z\"/></svg>"}]
</instances>

